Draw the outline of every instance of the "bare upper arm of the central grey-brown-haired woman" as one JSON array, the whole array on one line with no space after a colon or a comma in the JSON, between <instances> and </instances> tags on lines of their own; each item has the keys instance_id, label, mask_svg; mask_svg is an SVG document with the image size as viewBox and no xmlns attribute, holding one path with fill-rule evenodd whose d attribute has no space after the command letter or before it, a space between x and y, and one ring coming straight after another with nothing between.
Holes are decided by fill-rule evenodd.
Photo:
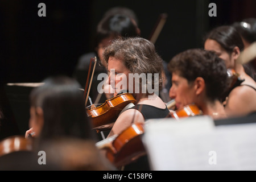
<instances>
[{"instance_id":1,"label":"bare upper arm of the central grey-brown-haired woman","mask_svg":"<svg viewBox=\"0 0 256 182\"><path fill-rule=\"evenodd\" d=\"M132 123L138 122L144 122L144 117L141 112L136 109L128 109L119 115L108 137L115 134L120 134L123 130L127 129L127 127L131 126Z\"/></svg>"}]
</instances>

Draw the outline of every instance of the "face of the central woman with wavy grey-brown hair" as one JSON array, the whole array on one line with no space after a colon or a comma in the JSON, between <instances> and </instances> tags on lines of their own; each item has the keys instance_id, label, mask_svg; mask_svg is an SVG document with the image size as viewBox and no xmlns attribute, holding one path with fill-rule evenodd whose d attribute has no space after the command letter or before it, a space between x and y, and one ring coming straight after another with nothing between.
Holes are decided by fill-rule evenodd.
<instances>
[{"instance_id":1,"label":"face of the central woman with wavy grey-brown hair","mask_svg":"<svg viewBox=\"0 0 256 182\"><path fill-rule=\"evenodd\" d=\"M114 89L114 96L117 96L121 90L129 89L129 73L131 72L125 67L122 60L109 57L108 72L108 84Z\"/></svg>"}]
</instances>

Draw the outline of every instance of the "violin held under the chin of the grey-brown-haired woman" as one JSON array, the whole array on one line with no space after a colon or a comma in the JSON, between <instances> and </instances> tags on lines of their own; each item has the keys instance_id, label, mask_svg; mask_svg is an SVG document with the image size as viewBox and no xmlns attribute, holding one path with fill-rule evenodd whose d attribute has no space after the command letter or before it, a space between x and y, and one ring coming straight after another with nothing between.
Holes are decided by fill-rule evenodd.
<instances>
[{"instance_id":1,"label":"violin held under the chin of the grey-brown-haired woman","mask_svg":"<svg viewBox=\"0 0 256 182\"><path fill-rule=\"evenodd\" d=\"M115 122L122 109L136 100L131 93L122 93L106 100L104 104L94 109L86 109L88 117L91 118L93 129L108 128L110 123Z\"/></svg>"}]
</instances>

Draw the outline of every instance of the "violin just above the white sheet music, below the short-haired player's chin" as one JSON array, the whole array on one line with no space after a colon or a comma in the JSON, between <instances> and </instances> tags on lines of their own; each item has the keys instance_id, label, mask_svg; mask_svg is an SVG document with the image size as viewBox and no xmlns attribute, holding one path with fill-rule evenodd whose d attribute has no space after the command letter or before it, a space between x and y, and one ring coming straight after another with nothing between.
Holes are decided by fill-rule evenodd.
<instances>
[{"instance_id":1,"label":"violin just above the white sheet music, below the short-haired player's chin","mask_svg":"<svg viewBox=\"0 0 256 182\"><path fill-rule=\"evenodd\" d=\"M180 109L175 110L174 113L170 113L168 117L179 119L195 115L203 115L203 111L201 111L201 109L199 109L199 107L197 107L195 104L189 104L184 107L181 107Z\"/></svg>"}]
</instances>

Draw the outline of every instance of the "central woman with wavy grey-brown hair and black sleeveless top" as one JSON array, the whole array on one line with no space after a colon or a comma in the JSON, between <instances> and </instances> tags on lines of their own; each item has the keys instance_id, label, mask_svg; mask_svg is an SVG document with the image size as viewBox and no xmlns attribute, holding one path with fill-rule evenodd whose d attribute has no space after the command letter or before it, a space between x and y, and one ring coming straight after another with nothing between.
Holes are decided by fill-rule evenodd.
<instances>
[{"instance_id":1,"label":"central woman with wavy grey-brown hair and black sleeveless top","mask_svg":"<svg viewBox=\"0 0 256 182\"><path fill-rule=\"evenodd\" d=\"M163 60L156 53L154 44L143 38L117 39L105 48L103 56L114 96L127 90L137 100L135 106L119 115L108 137L120 134L132 123L168 115L166 104L158 97L163 80Z\"/></svg>"}]
</instances>

